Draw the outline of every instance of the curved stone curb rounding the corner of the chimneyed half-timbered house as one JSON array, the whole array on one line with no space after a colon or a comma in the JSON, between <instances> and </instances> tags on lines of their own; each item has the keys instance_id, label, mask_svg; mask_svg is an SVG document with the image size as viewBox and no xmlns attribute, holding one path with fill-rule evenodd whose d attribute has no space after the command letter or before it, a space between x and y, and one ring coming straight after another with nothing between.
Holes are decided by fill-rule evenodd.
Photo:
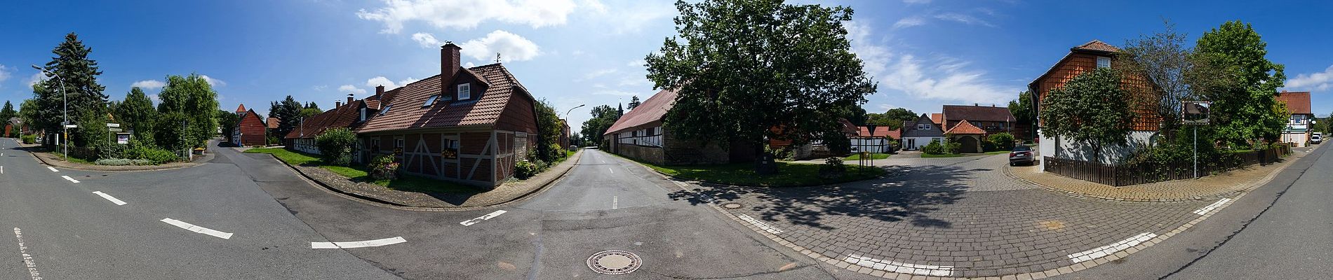
<instances>
[{"instance_id":1,"label":"curved stone curb rounding the corner of the chimneyed half-timbered house","mask_svg":"<svg viewBox=\"0 0 1333 280\"><path fill-rule=\"evenodd\" d=\"M361 203L367 203L367 204L371 204L371 206L380 206L380 207L388 207L388 208L395 208L395 210L435 211L435 212L439 212L439 211L472 211L472 210L495 208L495 207L508 206L508 204L515 203L515 202L527 200L528 198L532 198L536 194L545 192L545 190L549 188L551 184L553 184L555 182L563 179L565 176L565 174L569 173L569 170L573 170L573 165L579 165L579 161L583 158L583 150L580 150L579 153L575 154L573 161L565 161L565 162L560 163L560 166L569 165L571 167L564 169L559 174L551 176L551 180L541 182L540 187L536 187L536 188L533 188L531 191L527 191L524 194L520 194L520 195L517 195L517 196L515 196L512 199L507 199L504 202L499 202L499 203L495 203L495 204L487 204L487 206L460 206L460 207L409 206L409 204L401 204L401 203L388 202L388 200L384 200L384 199L372 198L372 196L368 196L368 195L361 195L361 194L356 194L356 192L351 192L351 191L344 191L341 188L332 187L328 183L325 183L325 182L323 182L320 179L316 179L315 176L312 176L309 174L305 174L305 171L301 171L301 169L297 169L296 166L292 166L292 165L284 162L283 159L279 159L273 154L268 154L268 155L272 157L273 161L277 161L277 162L283 163L284 166L287 166L293 173L301 175L301 178L305 178L305 180L311 182L312 184L320 186L325 191L329 191L332 194L337 194L339 196L344 196L344 198L348 198L348 199L352 199L352 200L357 200L357 202L361 202Z\"/></svg>"}]
</instances>

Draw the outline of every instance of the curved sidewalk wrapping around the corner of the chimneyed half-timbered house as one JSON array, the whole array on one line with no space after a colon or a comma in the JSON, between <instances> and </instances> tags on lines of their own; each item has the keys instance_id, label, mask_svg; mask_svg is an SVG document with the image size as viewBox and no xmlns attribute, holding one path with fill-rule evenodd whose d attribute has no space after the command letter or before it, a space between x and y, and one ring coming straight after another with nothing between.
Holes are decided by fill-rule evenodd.
<instances>
[{"instance_id":1,"label":"curved sidewalk wrapping around the corner of the chimneyed half-timbered house","mask_svg":"<svg viewBox=\"0 0 1333 280\"><path fill-rule=\"evenodd\" d=\"M335 174L325 169L311 167L311 166L292 166L299 174L315 180L317 184L324 186L332 191L341 192L357 199L371 200L383 204L400 206L400 207L417 207L417 208L476 208L496 206L507 202L513 202L516 199L524 198L529 194L543 190L543 187L551 186L552 182L560 179L579 163L579 158L583 151L575 153L573 157L565 159L560 165L552 166L547 171L537 174L525 180L512 180L497 186L495 190L477 194L424 194L412 191L397 191L389 190L387 187L365 183L365 182L352 182L343 175ZM279 159L273 159L279 161ZM281 162L281 161L279 161ZM285 165L285 162L284 162Z\"/></svg>"}]
</instances>

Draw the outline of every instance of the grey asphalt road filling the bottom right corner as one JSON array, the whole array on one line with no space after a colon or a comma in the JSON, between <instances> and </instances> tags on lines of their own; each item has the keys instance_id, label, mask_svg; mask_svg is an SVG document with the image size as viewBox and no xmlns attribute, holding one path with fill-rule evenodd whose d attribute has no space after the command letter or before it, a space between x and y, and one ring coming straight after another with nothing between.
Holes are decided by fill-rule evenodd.
<instances>
[{"instance_id":1,"label":"grey asphalt road filling the bottom right corner","mask_svg":"<svg viewBox=\"0 0 1333 280\"><path fill-rule=\"evenodd\" d=\"M1330 279L1333 155L1324 146L1165 243L1060 279Z\"/></svg>"}]
</instances>

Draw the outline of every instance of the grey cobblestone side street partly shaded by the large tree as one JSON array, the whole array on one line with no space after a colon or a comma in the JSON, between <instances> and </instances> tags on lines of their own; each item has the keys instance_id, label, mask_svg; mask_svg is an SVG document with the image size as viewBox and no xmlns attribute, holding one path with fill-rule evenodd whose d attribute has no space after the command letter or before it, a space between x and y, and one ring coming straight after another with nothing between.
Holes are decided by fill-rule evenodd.
<instances>
[{"instance_id":1,"label":"grey cobblestone side street partly shaded by the large tree","mask_svg":"<svg viewBox=\"0 0 1333 280\"><path fill-rule=\"evenodd\" d=\"M1156 244L1229 202L1069 196L1005 175L1006 161L902 161L886 169L910 171L873 182L802 188L689 184L692 191L672 196L712 202L804 255L890 279L1070 273Z\"/></svg>"}]
</instances>

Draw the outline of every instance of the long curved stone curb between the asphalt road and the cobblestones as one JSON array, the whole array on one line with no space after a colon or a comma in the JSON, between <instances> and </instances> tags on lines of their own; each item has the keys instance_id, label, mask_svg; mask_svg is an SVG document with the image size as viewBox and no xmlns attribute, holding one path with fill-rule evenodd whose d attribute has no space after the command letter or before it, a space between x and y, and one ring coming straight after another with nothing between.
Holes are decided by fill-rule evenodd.
<instances>
[{"instance_id":1,"label":"long curved stone curb between the asphalt road and the cobblestones","mask_svg":"<svg viewBox=\"0 0 1333 280\"><path fill-rule=\"evenodd\" d=\"M631 161L631 162L633 162L633 161ZM1296 162L1296 161L1289 161L1286 163L1282 163L1284 166L1280 166L1277 169L1277 171L1269 173L1269 175L1264 176L1262 179L1260 179L1258 182L1256 182L1253 186L1248 187L1246 190L1253 190L1256 186L1268 184L1269 182L1273 180L1273 178L1277 176L1278 171L1281 171L1282 169L1285 169L1286 165L1290 165L1292 162ZM635 162L635 163L637 163L637 162ZM640 165L640 166L643 166L643 165ZM660 176L663 176L663 178L665 178L668 180L673 180L676 183L676 186L680 187L684 191L688 191L690 194L698 194L697 191L689 190L689 188L685 187L685 186L689 186L688 182L697 182L697 180L674 180L674 176L670 176L670 175L666 175L666 174L663 174L663 173L657 173L657 170L649 169L647 166L644 166L644 169L651 170L655 174L657 174L657 175L660 175ZM1008 170L1008 166L1005 167L1005 170ZM889 271L880 271L880 269L873 269L873 268L868 268L868 267L861 267L858 264L853 264L853 263L848 263L848 261L844 261L841 259L837 259L838 256L832 256L832 257L830 256L825 256L822 253L818 253L818 252L810 251L808 248L804 248L801 245L797 245L794 243L790 243L790 242L788 242L788 240L785 240L785 239L782 239L782 238L780 238L777 235L769 234L764 228L760 228L760 227L757 227L757 226L754 226L752 223L746 223L745 220L740 219L734 214L726 211L725 208L722 208L721 206L718 206L712 196L704 195L704 198L705 198L705 202L706 202L706 204L709 207L713 207L713 210L717 210L722 215L730 218L733 222L740 223L741 226L745 226L750 231L754 231L754 234L762 235L764 238L768 238L769 240L772 240L772 242L774 242L774 243L777 243L780 245L790 248L792 251L796 251L800 255L809 256L810 259L814 259L818 263L834 265L834 267L844 268L844 269L848 269L848 271L852 271L852 272L857 272L857 273L862 273L862 275L869 275L869 276L874 276L874 277L896 279L896 280L920 280L920 279L925 279L925 280L936 280L936 279L986 279L986 280L990 280L990 279L994 279L994 280L1033 279L1034 280L1034 279L1053 277L1053 276L1065 275L1065 273L1073 273L1073 272L1084 271L1084 269L1088 269L1088 268L1092 268L1092 267L1096 267L1096 265L1101 265L1101 264L1105 264L1105 263L1112 263L1114 260L1120 260L1120 259L1128 257L1129 255L1133 255L1134 252L1146 249L1148 247L1152 247L1152 245L1154 245L1157 243L1162 243L1168 238L1174 236L1176 234L1185 232L1186 230L1189 230L1194 224L1198 224L1198 223L1204 222L1205 219L1212 218L1213 214L1221 212L1224 208L1232 206L1233 203L1236 203L1237 200L1240 200L1242 196L1245 196L1245 194L1246 192L1240 192L1237 196L1232 198L1232 200L1229 200L1226 203L1222 203L1217 208L1214 208L1214 210L1212 210L1212 211L1209 211L1209 212L1206 212L1204 215L1200 215L1198 218L1194 218L1193 220L1190 220L1190 222L1188 222L1188 223L1177 227L1176 230L1172 230L1172 231L1169 231L1166 234L1161 234L1161 235L1158 235L1156 238L1152 238L1150 240L1142 242L1141 244L1137 244L1134 247L1129 247L1129 248L1126 248L1124 251L1118 251L1116 253L1110 253L1108 256L1102 256L1102 257L1098 257L1098 259L1092 259L1092 260L1086 260L1086 261L1074 263L1074 264L1068 265L1068 267L1052 268L1052 269L1046 269L1046 271L1029 272L1029 273L1018 273L1018 275L985 276L985 277L952 277L952 276L950 277L941 277L941 276L928 276L924 272L921 275L898 273L898 272L889 272Z\"/></svg>"}]
</instances>

